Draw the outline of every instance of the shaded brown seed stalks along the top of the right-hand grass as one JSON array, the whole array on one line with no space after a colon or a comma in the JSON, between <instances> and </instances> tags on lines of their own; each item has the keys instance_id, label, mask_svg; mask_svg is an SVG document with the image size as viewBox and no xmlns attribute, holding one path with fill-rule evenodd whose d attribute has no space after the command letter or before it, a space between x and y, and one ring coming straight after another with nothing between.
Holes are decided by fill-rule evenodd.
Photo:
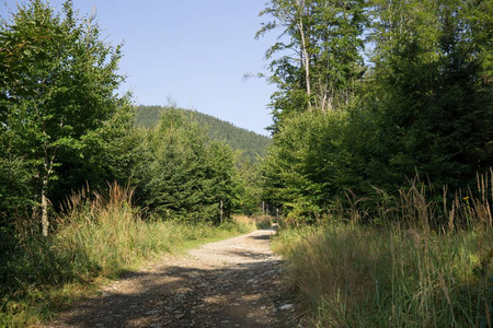
<instances>
[{"instance_id":1,"label":"shaded brown seed stalks along the top of the right-hand grass","mask_svg":"<svg viewBox=\"0 0 493 328\"><path fill-rule=\"evenodd\" d=\"M399 223L408 226L434 227L449 233L455 230L482 225L493 226L493 171L477 176L475 190L458 190L450 194L447 187L437 191L419 176L401 188L399 197L390 197L375 188L375 198L358 198L346 192L348 207L340 206L331 212L332 218L343 218L352 223L374 225Z\"/></svg>"}]
</instances>

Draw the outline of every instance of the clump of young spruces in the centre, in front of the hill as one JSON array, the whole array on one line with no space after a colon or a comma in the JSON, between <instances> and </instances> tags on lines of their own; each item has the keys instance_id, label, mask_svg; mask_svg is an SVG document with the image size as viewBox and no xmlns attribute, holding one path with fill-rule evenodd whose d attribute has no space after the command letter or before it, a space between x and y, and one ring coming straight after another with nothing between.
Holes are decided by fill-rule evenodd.
<instances>
[{"instance_id":1,"label":"clump of young spruces in the centre, in front of the hill","mask_svg":"<svg viewBox=\"0 0 493 328\"><path fill-rule=\"evenodd\" d=\"M238 208L234 154L183 112L170 109L149 132L146 204L163 218L219 223Z\"/></svg>"}]
</instances>

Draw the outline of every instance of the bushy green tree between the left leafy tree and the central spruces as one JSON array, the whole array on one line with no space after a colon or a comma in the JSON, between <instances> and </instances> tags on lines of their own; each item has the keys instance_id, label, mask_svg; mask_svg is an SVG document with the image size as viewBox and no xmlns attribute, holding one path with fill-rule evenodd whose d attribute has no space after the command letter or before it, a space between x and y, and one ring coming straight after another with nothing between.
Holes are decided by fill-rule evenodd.
<instances>
[{"instance_id":1,"label":"bushy green tree between the left leafy tree and the central spruces","mask_svg":"<svg viewBox=\"0 0 493 328\"><path fill-rule=\"evenodd\" d=\"M151 154L146 132L134 128L135 108L126 102L123 99L122 106L101 127L82 137L76 153L60 151L59 179L50 192L56 209L74 188L84 185L104 190L108 181L118 181L136 187L141 196L141 171L148 166Z\"/></svg>"}]
</instances>

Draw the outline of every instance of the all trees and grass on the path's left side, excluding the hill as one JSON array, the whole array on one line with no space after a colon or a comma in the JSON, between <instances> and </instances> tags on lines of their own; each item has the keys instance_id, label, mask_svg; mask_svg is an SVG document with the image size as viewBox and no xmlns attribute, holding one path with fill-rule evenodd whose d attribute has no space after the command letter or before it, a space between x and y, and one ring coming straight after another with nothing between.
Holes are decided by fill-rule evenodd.
<instances>
[{"instance_id":1,"label":"all trees and grass on the path's left side, excluding the hill","mask_svg":"<svg viewBox=\"0 0 493 328\"><path fill-rule=\"evenodd\" d=\"M259 211L256 153L174 108L137 127L131 95L118 92L122 46L72 1L57 12L26 0L5 15L0 327L37 325L163 253L255 229L233 215Z\"/></svg>"}]
</instances>

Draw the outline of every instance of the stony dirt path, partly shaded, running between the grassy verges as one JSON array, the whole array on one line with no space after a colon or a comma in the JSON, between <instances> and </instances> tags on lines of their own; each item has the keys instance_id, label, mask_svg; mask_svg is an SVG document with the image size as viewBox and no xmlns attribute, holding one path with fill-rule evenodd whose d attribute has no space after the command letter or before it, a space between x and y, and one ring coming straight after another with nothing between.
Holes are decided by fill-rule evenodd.
<instances>
[{"instance_id":1,"label":"stony dirt path, partly shaded, running between the grassy verges","mask_svg":"<svg viewBox=\"0 0 493 328\"><path fill-rule=\"evenodd\" d=\"M211 243L107 285L47 327L296 327L274 231Z\"/></svg>"}]
</instances>

